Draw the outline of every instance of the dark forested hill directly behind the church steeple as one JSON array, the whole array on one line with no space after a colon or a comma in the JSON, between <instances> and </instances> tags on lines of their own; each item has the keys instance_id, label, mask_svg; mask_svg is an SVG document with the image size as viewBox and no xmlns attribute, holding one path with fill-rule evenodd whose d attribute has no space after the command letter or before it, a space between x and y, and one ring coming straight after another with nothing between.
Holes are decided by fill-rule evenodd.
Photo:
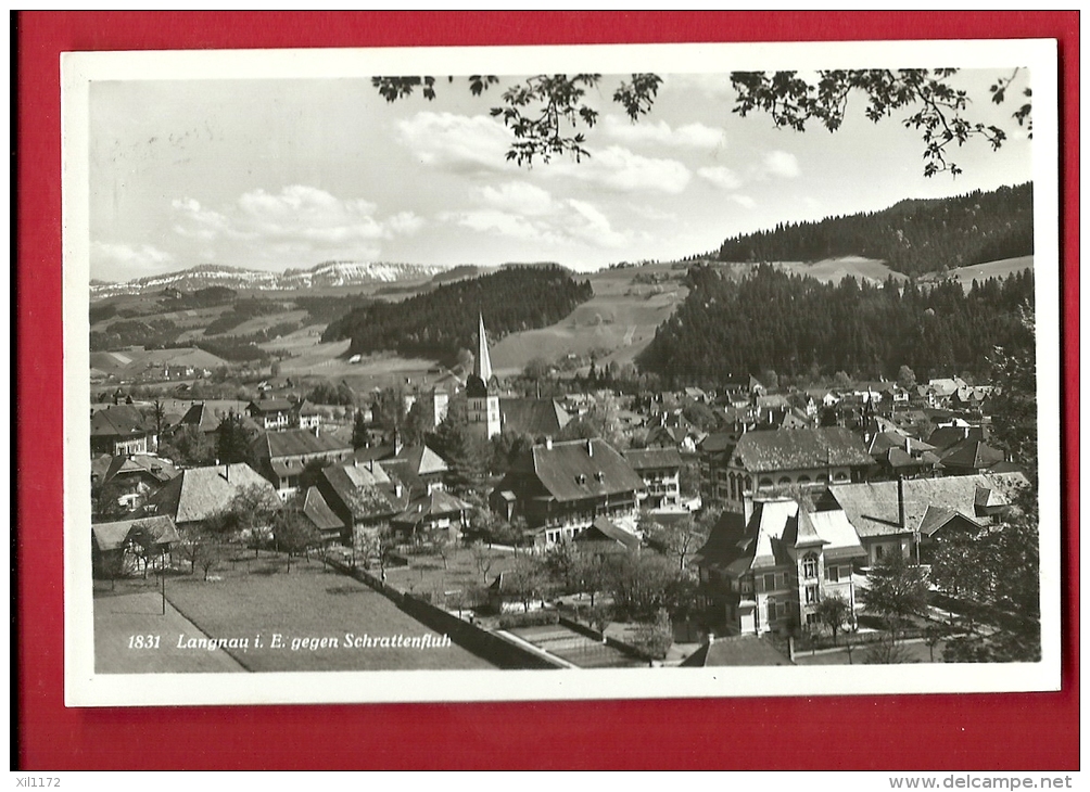
<instances>
[{"instance_id":1,"label":"dark forested hill directly behind the church steeple","mask_svg":"<svg viewBox=\"0 0 1090 792\"><path fill-rule=\"evenodd\" d=\"M556 265L506 267L399 303L356 308L329 325L322 340L350 338L352 354L388 350L452 358L459 350L476 348L479 313L495 341L557 322L593 294L589 281L577 281Z\"/></svg>"}]
</instances>

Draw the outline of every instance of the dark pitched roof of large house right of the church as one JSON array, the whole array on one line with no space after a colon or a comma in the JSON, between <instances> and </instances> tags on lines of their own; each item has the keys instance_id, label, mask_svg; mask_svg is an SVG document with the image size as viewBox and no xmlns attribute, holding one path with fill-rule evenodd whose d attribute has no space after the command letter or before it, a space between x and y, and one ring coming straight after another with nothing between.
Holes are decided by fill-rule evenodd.
<instances>
[{"instance_id":1,"label":"dark pitched roof of large house right of the church","mask_svg":"<svg viewBox=\"0 0 1090 792\"><path fill-rule=\"evenodd\" d=\"M631 492L643 479L605 440L570 440L534 446L533 470L549 494L560 501Z\"/></svg>"}]
</instances>

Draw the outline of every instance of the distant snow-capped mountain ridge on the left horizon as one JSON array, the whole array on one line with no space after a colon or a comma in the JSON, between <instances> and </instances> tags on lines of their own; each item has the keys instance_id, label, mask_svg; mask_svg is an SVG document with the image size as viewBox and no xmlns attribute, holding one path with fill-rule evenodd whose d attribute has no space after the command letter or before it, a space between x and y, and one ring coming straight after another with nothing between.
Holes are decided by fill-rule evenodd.
<instances>
[{"instance_id":1,"label":"distant snow-capped mountain ridge on the left horizon","mask_svg":"<svg viewBox=\"0 0 1090 792\"><path fill-rule=\"evenodd\" d=\"M431 278L446 267L422 264L387 264L371 261L323 261L311 269L286 269L283 272L268 272L259 269L244 269L218 264L202 264L179 272L136 278L124 283L92 281L93 298L111 297L117 294L142 294L162 289L195 291L209 287L228 289L261 289L287 291L294 289L316 289L366 283L389 283L399 280Z\"/></svg>"}]
</instances>

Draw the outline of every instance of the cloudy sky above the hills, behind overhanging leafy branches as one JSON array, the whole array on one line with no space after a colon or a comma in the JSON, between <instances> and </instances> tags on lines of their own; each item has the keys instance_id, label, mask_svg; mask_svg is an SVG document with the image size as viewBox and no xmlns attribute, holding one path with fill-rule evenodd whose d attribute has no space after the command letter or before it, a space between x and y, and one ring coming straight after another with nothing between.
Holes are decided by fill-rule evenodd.
<instances>
[{"instance_id":1,"label":"cloudy sky above the hills, behind overhanging leafy branches","mask_svg":"<svg viewBox=\"0 0 1090 792\"><path fill-rule=\"evenodd\" d=\"M631 123L603 75L588 101L591 157L518 167L513 139L464 80L393 103L363 78L95 81L89 90L90 277L122 281L219 264L263 270L328 260L429 265L617 261L714 251L724 239L904 198L1032 178L1031 141L995 106L1003 71L961 71L973 120L1009 137L954 153L959 176L923 175L907 111L804 133L731 112L728 74L663 74ZM1026 73L1019 75L1024 82Z\"/></svg>"}]
</instances>

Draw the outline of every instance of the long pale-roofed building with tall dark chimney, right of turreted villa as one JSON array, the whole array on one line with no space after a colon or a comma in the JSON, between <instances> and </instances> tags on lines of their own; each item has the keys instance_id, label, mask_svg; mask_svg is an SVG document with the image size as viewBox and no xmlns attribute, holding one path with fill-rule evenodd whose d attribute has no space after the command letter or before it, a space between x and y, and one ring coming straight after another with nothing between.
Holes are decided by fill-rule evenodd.
<instances>
[{"instance_id":1,"label":"long pale-roofed building with tall dark chimney, right of turreted villa","mask_svg":"<svg viewBox=\"0 0 1090 792\"><path fill-rule=\"evenodd\" d=\"M1027 480L1018 472L984 473L832 485L828 492L848 515L872 565L894 552L915 560L918 546L924 559L930 540L950 524L949 512L977 523L1001 519Z\"/></svg>"}]
</instances>

